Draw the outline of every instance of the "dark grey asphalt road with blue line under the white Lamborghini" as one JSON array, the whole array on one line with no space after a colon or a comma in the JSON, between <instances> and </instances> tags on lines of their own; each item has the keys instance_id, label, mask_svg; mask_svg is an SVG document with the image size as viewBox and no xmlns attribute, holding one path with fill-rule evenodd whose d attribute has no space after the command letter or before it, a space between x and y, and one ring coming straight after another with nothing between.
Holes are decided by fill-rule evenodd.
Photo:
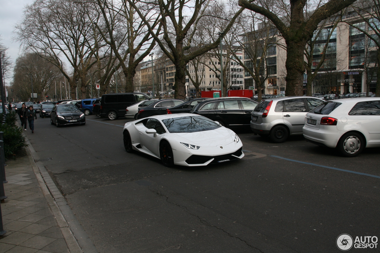
<instances>
[{"instance_id":1,"label":"dark grey asphalt road with blue line under the white Lamborghini","mask_svg":"<svg viewBox=\"0 0 380 253\"><path fill-rule=\"evenodd\" d=\"M27 135L102 253L340 252L340 234L380 238L380 148L343 158L300 136L274 144L239 130L243 149L264 155L166 168L125 152L126 119L86 119L38 118Z\"/></svg>"}]
</instances>

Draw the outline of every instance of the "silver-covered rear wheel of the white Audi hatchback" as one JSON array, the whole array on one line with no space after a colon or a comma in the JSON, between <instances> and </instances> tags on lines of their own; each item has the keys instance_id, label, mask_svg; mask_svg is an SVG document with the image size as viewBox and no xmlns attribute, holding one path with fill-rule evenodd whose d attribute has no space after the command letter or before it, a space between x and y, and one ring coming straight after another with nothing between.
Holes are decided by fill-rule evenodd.
<instances>
[{"instance_id":1,"label":"silver-covered rear wheel of the white Audi hatchback","mask_svg":"<svg viewBox=\"0 0 380 253\"><path fill-rule=\"evenodd\" d=\"M345 157L357 156L364 149L363 136L355 132L346 133L340 137L336 148Z\"/></svg>"}]
</instances>

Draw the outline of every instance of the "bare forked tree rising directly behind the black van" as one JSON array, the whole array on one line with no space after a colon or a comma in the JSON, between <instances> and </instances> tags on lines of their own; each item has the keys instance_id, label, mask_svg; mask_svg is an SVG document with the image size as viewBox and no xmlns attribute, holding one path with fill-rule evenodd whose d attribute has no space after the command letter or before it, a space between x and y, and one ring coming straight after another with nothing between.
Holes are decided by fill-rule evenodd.
<instances>
[{"instance_id":1,"label":"bare forked tree rising directly behind the black van","mask_svg":"<svg viewBox=\"0 0 380 253\"><path fill-rule=\"evenodd\" d=\"M155 30L159 19L155 11L149 5L140 5L136 0L132 2L138 5L144 19L152 22L152 29ZM135 9L127 0L120 2L97 0L96 3L103 17L105 31L100 26L97 27L120 62L125 75L125 92L133 92L136 67L154 48L155 41L150 36L144 21L139 19ZM156 36L160 29L161 26L158 25Z\"/></svg>"}]
</instances>

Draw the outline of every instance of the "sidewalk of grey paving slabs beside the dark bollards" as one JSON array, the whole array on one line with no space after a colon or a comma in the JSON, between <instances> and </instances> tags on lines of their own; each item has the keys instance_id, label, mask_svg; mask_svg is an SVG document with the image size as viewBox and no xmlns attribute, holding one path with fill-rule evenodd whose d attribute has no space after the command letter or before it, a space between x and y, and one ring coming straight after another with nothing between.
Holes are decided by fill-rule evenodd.
<instances>
[{"instance_id":1,"label":"sidewalk of grey paving slabs beside the dark bollards","mask_svg":"<svg viewBox=\"0 0 380 253\"><path fill-rule=\"evenodd\" d=\"M0 239L0 253L82 252L30 159L29 153L6 162L8 183L4 189L8 198L1 208L7 233Z\"/></svg>"}]
</instances>

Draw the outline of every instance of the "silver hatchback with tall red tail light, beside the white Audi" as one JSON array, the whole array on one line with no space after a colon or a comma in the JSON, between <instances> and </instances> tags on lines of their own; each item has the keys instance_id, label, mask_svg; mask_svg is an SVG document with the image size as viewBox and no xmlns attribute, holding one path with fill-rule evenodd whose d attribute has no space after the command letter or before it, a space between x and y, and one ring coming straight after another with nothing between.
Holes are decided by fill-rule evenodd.
<instances>
[{"instance_id":1,"label":"silver hatchback with tall red tail light, beside the white Audi","mask_svg":"<svg viewBox=\"0 0 380 253\"><path fill-rule=\"evenodd\" d=\"M252 111L251 129L260 136L269 136L275 143L289 135L302 134L306 113L325 102L315 97L276 97L261 100Z\"/></svg>"}]
</instances>

